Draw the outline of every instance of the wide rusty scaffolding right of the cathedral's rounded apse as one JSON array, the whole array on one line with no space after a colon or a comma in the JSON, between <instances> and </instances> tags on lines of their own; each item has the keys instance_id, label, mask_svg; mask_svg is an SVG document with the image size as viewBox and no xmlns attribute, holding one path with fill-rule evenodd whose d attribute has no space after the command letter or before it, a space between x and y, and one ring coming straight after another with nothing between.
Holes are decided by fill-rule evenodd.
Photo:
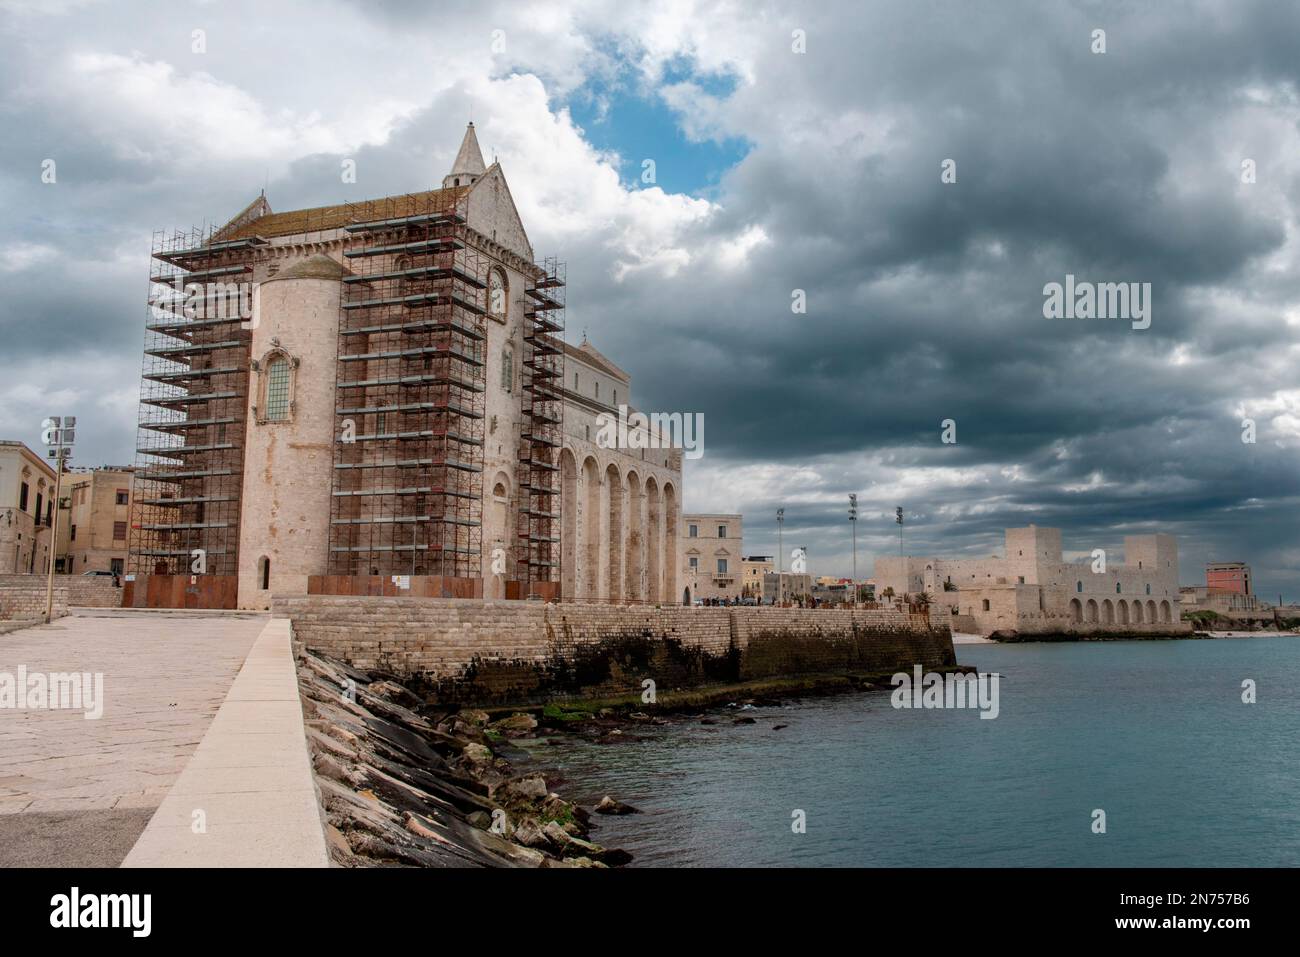
<instances>
[{"instance_id":1,"label":"wide rusty scaffolding right of the cathedral's rounded apse","mask_svg":"<svg viewBox=\"0 0 1300 957\"><path fill-rule=\"evenodd\" d=\"M481 580L486 257L464 191L358 204L344 229L330 575Z\"/></svg>"}]
</instances>

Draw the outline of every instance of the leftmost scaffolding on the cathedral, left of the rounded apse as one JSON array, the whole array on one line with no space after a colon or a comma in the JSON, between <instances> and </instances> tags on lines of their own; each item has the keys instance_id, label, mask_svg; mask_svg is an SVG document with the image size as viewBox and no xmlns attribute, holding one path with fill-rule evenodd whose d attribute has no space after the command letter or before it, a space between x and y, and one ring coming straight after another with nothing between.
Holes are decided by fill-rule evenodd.
<instances>
[{"instance_id":1,"label":"leftmost scaffolding on the cathedral, left of the rounded apse","mask_svg":"<svg viewBox=\"0 0 1300 957\"><path fill-rule=\"evenodd\" d=\"M252 256L264 243L153 234L130 573L238 575Z\"/></svg>"}]
</instances>

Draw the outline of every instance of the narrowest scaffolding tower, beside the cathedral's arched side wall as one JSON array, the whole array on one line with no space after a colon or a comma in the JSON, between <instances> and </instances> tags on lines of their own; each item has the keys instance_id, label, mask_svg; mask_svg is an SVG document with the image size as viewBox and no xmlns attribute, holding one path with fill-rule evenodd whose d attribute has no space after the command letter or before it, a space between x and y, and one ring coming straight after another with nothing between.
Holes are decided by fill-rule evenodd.
<instances>
[{"instance_id":1,"label":"narrowest scaffolding tower, beside the cathedral's arched side wall","mask_svg":"<svg viewBox=\"0 0 1300 957\"><path fill-rule=\"evenodd\" d=\"M516 465L520 511L516 577L521 598L560 597L564 272L563 263L543 260L525 289L523 420ZM555 584L549 588L543 583Z\"/></svg>"}]
</instances>

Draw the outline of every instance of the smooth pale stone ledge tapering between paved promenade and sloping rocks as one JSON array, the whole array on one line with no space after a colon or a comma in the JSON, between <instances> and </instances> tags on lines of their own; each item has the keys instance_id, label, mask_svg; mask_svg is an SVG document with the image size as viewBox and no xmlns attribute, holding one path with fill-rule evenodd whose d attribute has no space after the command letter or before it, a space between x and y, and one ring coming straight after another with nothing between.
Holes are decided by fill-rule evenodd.
<instances>
[{"instance_id":1,"label":"smooth pale stone ledge tapering between paved promenade and sloping rocks","mask_svg":"<svg viewBox=\"0 0 1300 957\"><path fill-rule=\"evenodd\" d=\"M261 629L124 867L328 867L289 619Z\"/></svg>"}]
</instances>

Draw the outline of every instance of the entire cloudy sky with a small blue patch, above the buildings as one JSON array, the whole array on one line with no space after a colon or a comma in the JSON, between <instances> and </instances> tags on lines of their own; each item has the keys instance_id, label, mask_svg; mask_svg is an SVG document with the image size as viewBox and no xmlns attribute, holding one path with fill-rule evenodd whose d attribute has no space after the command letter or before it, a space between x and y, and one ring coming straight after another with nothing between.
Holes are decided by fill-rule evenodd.
<instances>
[{"instance_id":1,"label":"entire cloudy sky with a small blue patch, above the buildings","mask_svg":"<svg viewBox=\"0 0 1300 957\"><path fill-rule=\"evenodd\" d=\"M1295 4L430 7L0 0L0 437L131 462L152 231L437 186L472 116L748 551L784 506L848 573L857 492L863 572L902 506L910 554L1166 531L1300 598ZM1066 274L1150 328L1044 319Z\"/></svg>"}]
</instances>

